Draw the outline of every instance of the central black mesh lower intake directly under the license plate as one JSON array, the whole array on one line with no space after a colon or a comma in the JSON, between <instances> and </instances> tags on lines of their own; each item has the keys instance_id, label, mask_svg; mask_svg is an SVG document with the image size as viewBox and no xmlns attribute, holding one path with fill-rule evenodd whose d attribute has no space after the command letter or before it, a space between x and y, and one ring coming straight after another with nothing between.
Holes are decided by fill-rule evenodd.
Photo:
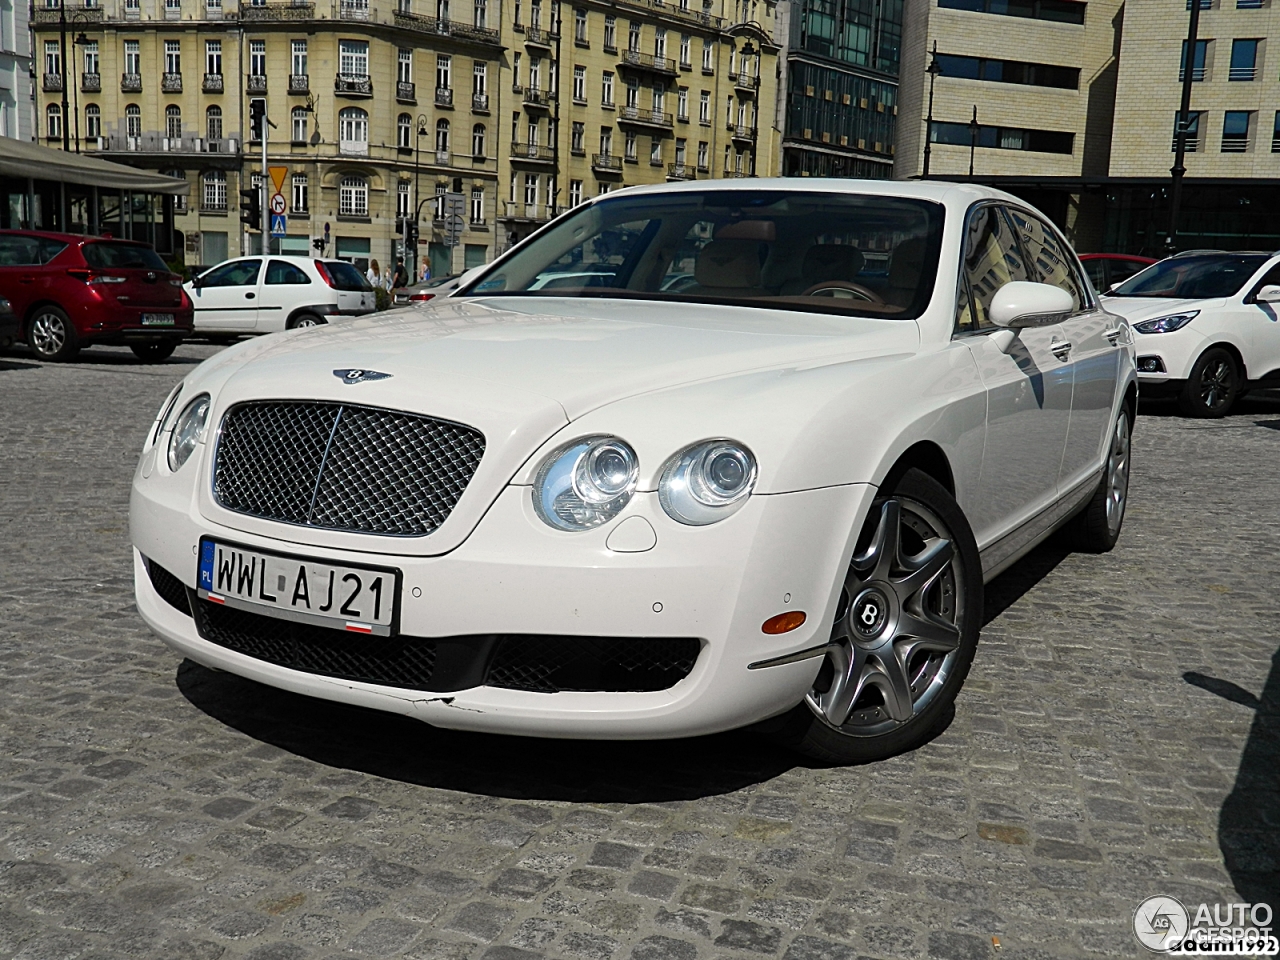
<instances>
[{"instance_id":1,"label":"central black mesh lower intake directly under the license plate","mask_svg":"<svg viewBox=\"0 0 1280 960\"><path fill-rule=\"evenodd\" d=\"M431 640L347 634L209 600L196 600L195 611L196 627L205 640L256 660L340 680L430 689L435 671Z\"/></svg>"}]
</instances>

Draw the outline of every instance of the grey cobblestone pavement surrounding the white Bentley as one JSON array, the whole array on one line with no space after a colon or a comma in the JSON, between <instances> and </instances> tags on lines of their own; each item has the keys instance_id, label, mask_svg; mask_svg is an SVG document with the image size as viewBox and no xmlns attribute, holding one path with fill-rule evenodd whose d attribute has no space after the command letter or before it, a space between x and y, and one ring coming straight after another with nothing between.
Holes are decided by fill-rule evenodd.
<instances>
[{"instance_id":1,"label":"grey cobblestone pavement surrounding the white Bentley","mask_svg":"<svg viewBox=\"0 0 1280 960\"><path fill-rule=\"evenodd\" d=\"M1153 893L1280 910L1280 398L1144 410L1119 548L992 584L950 728L819 769L180 662L133 611L128 483L211 352L0 358L0 956L1078 957L1139 954Z\"/></svg>"}]
</instances>

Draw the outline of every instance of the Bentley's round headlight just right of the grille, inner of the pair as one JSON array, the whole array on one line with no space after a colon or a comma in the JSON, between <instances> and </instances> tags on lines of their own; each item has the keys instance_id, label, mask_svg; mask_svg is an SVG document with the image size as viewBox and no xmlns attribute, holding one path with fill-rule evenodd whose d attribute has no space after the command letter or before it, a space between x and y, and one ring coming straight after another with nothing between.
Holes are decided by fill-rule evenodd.
<instances>
[{"instance_id":1,"label":"Bentley's round headlight just right of the grille, inner of the pair","mask_svg":"<svg viewBox=\"0 0 1280 960\"><path fill-rule=\"evenodd\" d=\"M635 451L616 436L584 436L538 468L534 508L557 530L590 530L627 506L640 479Z\"/></svg>"}]
</instances>

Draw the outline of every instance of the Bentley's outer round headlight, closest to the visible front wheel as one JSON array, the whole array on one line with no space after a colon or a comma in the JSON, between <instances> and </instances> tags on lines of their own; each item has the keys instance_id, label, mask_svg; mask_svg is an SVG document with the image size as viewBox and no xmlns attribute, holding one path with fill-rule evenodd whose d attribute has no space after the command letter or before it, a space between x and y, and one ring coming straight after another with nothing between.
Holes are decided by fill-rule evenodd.
<instances>
[{"instance_id":1,"label":"Bentley's outer round headlight, closest to the visible front wheel","mask_svg":"<svg viewBox=\"0 0 1280 960\"><path fill-rule=\"evenodd\" d=\"M669 461L658 500L681 524L714 524L736 512L755 486L755 457L733 440L703 440Z\"/></svg>"}]
</instances>

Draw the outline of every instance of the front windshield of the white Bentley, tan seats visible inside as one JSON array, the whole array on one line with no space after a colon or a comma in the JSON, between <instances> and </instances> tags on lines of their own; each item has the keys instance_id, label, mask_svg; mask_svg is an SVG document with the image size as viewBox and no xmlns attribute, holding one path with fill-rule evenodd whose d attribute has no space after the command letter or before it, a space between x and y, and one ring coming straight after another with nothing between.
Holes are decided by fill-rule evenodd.
<instances>
[{"instance_id":1,"label":"front windshield of the white Bentley, tan seats visible inside","mask_svg":"<svg viewBox=\"0 0 1280 960\"><path fill-rule=\"evenodd\" d=\"M742 303L914 319L933 292L942 216L932 201L856 193L620 196L552 224L466 296Z\"/></svg>"}]
</instances>

